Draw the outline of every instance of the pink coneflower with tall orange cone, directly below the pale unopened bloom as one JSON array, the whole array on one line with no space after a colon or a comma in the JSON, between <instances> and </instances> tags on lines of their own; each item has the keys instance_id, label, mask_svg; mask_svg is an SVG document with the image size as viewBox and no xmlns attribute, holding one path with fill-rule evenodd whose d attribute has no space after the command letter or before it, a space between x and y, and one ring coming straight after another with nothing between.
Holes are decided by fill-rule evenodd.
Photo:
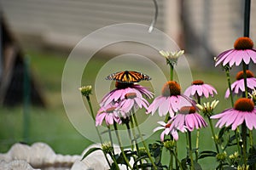
<instances>
[{"instance_id":1,"label":"pink coneflower with tall orange cone, directly below the pale unopened bloom","mask_svg":"<svg viewBox=\"0 0 256 170\"><path fill-rule=\"evenodd\" d=\"M162 94L148 106L147 114L150 112L154 114L158 109L160 116L166 116L169 112L172 117L175 112L185 105L193 105L192 100L188 96L181 94L181 88L177 82L169 81L162 88Z\"/></svg>"}]
</instances>

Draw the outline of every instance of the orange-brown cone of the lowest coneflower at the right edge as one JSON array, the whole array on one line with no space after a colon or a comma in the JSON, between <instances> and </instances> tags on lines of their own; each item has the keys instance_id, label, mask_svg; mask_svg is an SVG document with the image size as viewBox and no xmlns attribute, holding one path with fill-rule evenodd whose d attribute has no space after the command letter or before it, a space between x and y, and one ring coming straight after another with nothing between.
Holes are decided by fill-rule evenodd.
<instances>
[{"instance_id":1,"label":"orange-brown cone of the lowest coneflower at the right edge","mask_svg":"<svg viewBox=\"0 0 256 170\"><path fill-rule=\"evenodd\" d=\"M253 111L253 101L247 98L237 99L235 103L235 109L236 111Z\"/></svg>"}]
</instances>

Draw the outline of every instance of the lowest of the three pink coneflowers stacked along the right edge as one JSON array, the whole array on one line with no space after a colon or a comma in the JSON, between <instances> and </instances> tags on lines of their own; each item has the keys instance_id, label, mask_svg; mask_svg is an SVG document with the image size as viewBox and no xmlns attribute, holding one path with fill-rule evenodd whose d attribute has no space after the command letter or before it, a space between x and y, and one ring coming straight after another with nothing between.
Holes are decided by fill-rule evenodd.
<instances>
[{"instance_id":1,"label":"lowest of the three pink coneflowers stacked along the right edge","mask_svg":"<svg viewBox=\"0 0 256 170\"><path fill-rule=\"evenodd\" d=\"M219 119L216 127L229 127L235 130L236 127L246 122L247 127L252 130L256 129L256 109L253 101L247 98L237 99L234 108L223 111L218 115L211 116L211 119Z\"/></svg>"}]
</instances>

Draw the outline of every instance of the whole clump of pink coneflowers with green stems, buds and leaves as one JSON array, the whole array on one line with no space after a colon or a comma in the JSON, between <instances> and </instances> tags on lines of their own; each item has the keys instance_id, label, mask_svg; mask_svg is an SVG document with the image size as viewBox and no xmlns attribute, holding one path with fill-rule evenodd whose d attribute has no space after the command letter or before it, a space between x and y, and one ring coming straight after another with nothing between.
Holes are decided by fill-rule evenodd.
<instances>
[{"instance_id":1,"label":"whole clump of pink coneflowers with green stems, buds and leaves","mask_svg":"<svg viewBox=\"0 0 256 170\"><path fill-rule=\"evenodd\" d=\"M149 88L135 82L115 82L115 88L105 94L99 104L100 109L95 118L96 128L108 127L110 141L102 143L101 150L106 159L109 158L107 155L111 157L108 160L109 168L120 169L125 166L126 169L194 170L202 169L200 159L212 157L213 161L218 163L216 169L253 169L256 166L256 148L253 145L252 136L252 131L256 129L256 82L253 71L244 69L244 65L256 63L253 41L248 37L238 38L233 49L224 51L215 59L216 66L223 65L225 68L229 88L224 97L230 97L232 105L231 108L220 111L219 114L215 112L220 100L207 101L209 97L215 98L218 94L211 84L195 80L183 94L180 84L173 80L174 66L177 65L177 60L184 54L184 51L161 50L160 54L165 57L167 65L171 68L170 80L166 83L163 82L160 96L154 98L154 94L149 91ZM231 84L230 68L233 65L242 65L243 71L237 74L236 82ZM86 99L90 100L91 86L85 86L79 90ZM241 94L242 97L237 95L238 99L234 103L233 94ZM90 101L88 104L90 105ZM160 126L155 127L153 132L159 134L160 137L155 139L153 144L146 144L143 139L143 133L137 121L137 110L142 110L145 113L140 116L150 116L150 114L154 115L155 112L158 112L162 118L162 121L155 122ZM92 110L91 115L93 115ZM217 119L215 127L219 127L218 133L214 132L216 129L213 127L212 119ZM124 127L126 127L131 143L126 149L119 137L119 128L124 129ZM152 127L152 125L148 127ZM205 138L201 137L201 128L209 129L215 150L201 150L200 140L203 142ZM113 132L119 144L119 153L115 153L113 150ZM101 139L102 133L98 134ZM184 145L178 144L182 135L187 141L184 146L187 154L180 160L180 156L178 156L180 150L177 148ZM141 139L143 149L139 147L138 139ZM250 144L249 149L247 144ZM236 152L232 152L234 147ZM163 150L164 148L166 150ZM90 150L90 152L92 151ZM170 157L169 165L162 163L161 156L165 151ZM84 156L89 154L85 153Z\"/></svg>"}]
</instances>

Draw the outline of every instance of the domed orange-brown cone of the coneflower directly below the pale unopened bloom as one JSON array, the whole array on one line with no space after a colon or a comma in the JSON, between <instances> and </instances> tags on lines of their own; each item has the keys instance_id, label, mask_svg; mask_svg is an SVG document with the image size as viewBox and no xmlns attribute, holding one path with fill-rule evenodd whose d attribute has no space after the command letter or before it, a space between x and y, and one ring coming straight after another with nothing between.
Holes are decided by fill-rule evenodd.
<instances>
[{"instance_id":1,"label":"domed orange-brown cone of the coneflower directly below the pale unopened bloom","mask_svg":"<svg viewBox=\"0 0 256 170\"><path fill-rule=\"evenodd\" d=\"M162 88L162 95L165 97L177 96L181 94L180 85L175 81L168 81Z\"/></svg>"}]
</instances>

